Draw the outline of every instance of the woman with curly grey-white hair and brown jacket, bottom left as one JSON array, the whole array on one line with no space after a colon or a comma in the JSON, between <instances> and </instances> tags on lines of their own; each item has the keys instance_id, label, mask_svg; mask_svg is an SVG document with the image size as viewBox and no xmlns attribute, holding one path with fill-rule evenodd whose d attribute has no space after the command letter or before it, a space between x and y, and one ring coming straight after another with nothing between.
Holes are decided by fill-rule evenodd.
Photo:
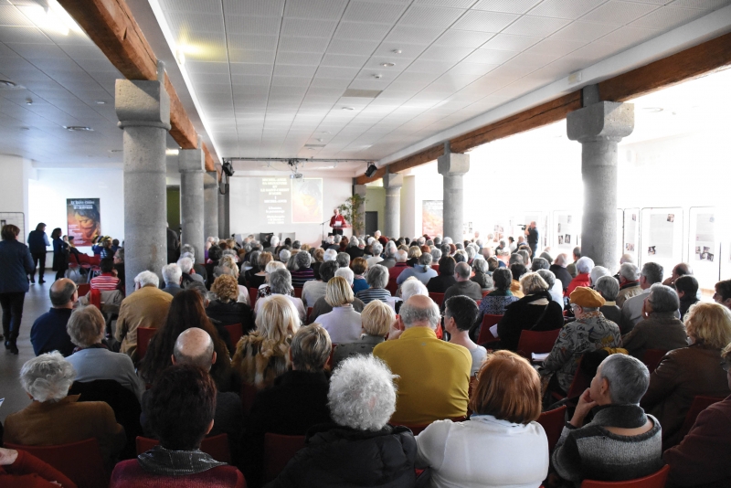
<instances>
[{"instance_id":1,"label":"woman with curly grey-white hair and brown jacket, bottom left","mask_svg":"<svg viewBox=\"0 0 731 488\"><path fill-rule=\"evenodd\" d=\"M75 377L74 366L58 351L27 361L20 369L20 385L32 402L7 416L3 440L54 446L96 438L101 458L111 467L124 447L124 429L105 402L79 402L79 395L67 396Z\"/></svg>"}]
</instances>

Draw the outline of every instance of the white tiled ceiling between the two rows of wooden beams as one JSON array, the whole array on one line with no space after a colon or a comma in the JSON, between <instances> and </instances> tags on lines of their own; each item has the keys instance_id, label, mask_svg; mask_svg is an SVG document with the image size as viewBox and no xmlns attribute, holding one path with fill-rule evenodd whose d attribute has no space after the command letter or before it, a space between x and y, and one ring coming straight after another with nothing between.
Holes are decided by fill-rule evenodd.
<instances>
[{"instance_id":1,"label":"white tiled ceiling between the two rows of wooden beams","mask_svg":"<svg viewBox=\"0 0 731 488\"><path fill-rule=\"evenodd\" d=\"M219 155L374 160L731 4L150 2L173 48L185 52L189 88ZM346 89L383 92L344 98Z\"/></svg>"}]
</instances>

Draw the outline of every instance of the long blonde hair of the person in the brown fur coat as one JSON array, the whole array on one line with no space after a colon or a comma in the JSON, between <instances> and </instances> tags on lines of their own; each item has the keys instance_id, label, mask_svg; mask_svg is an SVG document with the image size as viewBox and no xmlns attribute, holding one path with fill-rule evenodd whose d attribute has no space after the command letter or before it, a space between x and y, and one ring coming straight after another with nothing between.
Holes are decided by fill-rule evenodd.
<instances>
[{"instance_id":1,"label":"long blonde hair of the person in the brown fur coat","mask_svg":"<svg viewBox=\"0 0 731 488\"><path fill-rule=\"evenodd\" d=\"M291 338L300 328L300 314L283 295L271 295L257 313L257 333L264 339L260 354L270 357L276 350L287 354Z\"/></svg>"}]
</instances>

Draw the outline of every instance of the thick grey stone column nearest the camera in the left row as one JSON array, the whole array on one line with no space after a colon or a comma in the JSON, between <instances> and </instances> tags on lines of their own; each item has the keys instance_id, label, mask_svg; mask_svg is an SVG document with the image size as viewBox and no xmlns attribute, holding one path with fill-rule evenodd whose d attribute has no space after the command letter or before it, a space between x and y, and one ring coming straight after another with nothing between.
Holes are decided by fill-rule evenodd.
<instances>
[{"instance_id":1,"label":"thick grey stone column nearest the camera in the left row","mask_svg":"<svg viewBox=\"0 0 731 488\"><path fill-rule=\"evenodd\" d=\"M127 290L141 271L167 263L165 138L170 97L160 81L117 80L114 108L124 130L124 269Z\"/></svg>"}]
</instances>

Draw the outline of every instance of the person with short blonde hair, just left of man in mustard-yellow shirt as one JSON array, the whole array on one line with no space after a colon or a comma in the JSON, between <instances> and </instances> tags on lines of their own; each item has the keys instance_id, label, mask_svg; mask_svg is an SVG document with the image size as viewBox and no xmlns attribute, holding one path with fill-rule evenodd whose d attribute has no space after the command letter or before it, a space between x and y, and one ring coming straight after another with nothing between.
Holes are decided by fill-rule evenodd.
<instances>
[{"instance_id":1,"label":"person with short blonde hair, just left of man in mustard-yellow shirt","mask_svg":"<svg viewBox=\"0 0 731 488\"><path fill-rule=\"evenodd\" d=\"M396 313L386 303L374 300L365 305L360 317L362 321L360 338L355 342L335 347L333 367L337 367L341 361L354 355L373 354L373 348L384 342L388 330L396 320Z\"/></svg>"}]
</instances>

